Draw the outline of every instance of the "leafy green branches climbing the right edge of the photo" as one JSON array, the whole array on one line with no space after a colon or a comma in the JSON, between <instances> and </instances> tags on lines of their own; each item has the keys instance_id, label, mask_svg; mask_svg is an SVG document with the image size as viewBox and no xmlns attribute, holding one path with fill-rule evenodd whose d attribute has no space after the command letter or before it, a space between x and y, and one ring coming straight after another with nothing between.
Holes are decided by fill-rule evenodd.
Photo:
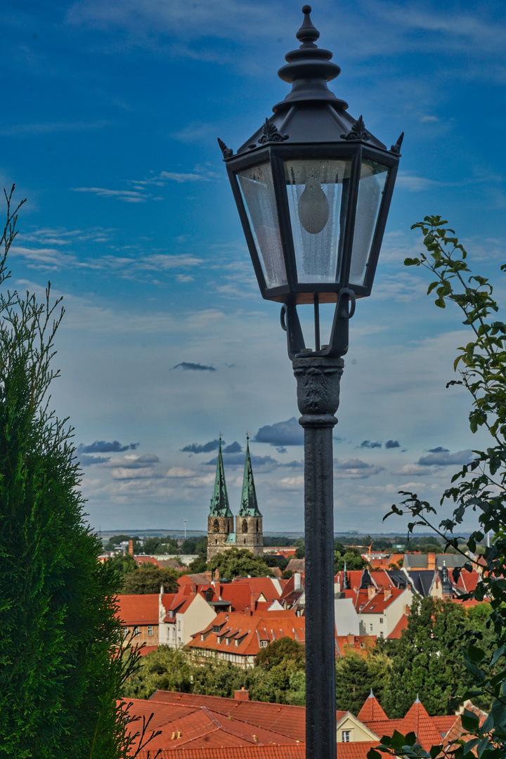
<instances>
[{"instance_id":1,"label":"leafy green branches climbing the right edge of the photo","mask_svg":"<svg viewBox=\"0 0 506 759\"><path fill-rule=\"evenodd\" d=\"M479 759L498 759L506 755L506 324L496 319L498 304L493 298L489 279L471 272L467 263L467 251L460 244L455 232L445 228L448 224L441 216L426 216L423 222L413 225L423 234L426 248L418 257L407 258L406 266L422 266L431 272L433 279L427 294L435 292L435 305L445 308L450 302L456 304L464 315L463 324L470 328L471 339L457 348L454 371L459 379L448 386L463 386L470 393L472 405L469 414L471 433L480 427L488 430L492 445L485 450L474 450L475 458L460 468L442 495L440 505L453 504L451 518L432 524L437 514L429 502L418 498L416 493L400 491L404 496L398 505L392 505L392 514L408 512L413 521L408 533L416 525L429 527L452 546L458 553L462 537L457 536L458 525L471 509L477 516L479 528L474 530L467 545L470 552L485 534L494 535L492 545L487 546L482 562L467 556L466 568L481 564L482 575L476 589L463 598L477 601L489 599L492 612L486 622L492 628L495 639L492 653L482 647L482 633L467 631L460 636L464 662L476 687L468 690L464 698L488 694L492 707L486 720L480 725L478 716L464 710L460 719L463 734L446 745L433 746L429 752L416 742L416 735L394 732L382 738L377 749L369 751L369 759L379 759L381 754L399 757L468 757L474 751ZM501 266L506 272L506 264ZM467 731L467 732L465 732Z\"/></svg>"}]
</instances>

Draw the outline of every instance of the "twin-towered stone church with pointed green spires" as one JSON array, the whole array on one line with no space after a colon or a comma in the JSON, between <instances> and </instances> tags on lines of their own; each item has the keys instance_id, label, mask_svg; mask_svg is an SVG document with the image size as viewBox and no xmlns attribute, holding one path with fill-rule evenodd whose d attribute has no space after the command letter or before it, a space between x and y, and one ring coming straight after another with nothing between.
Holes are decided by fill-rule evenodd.
<instances>
[{"instance_id":1,"label":"twin-towered stone church with pointed green spires","mask_svg":"<svg viewBox=\"0 0 506 759\"><path fill-rule=\"evenodd\" d=\"M235 518L228 505L228 493L223 468L222 442L216 461L215 489L207 518L207 560L228 548L247 548L254 556L263 556L262 515L256 502L255 483L251 468L250 446L247 443L244 462L243 491L240 509Z\"/></svg>"}]
</instances>

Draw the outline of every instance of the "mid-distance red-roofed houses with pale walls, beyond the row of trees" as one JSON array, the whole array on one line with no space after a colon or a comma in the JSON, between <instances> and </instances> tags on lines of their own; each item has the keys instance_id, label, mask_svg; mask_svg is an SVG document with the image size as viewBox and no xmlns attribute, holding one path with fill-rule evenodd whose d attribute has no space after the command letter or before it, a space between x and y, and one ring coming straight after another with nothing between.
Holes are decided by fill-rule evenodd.
<instances>
[{"instance_id":1,"label":"mid-distance red-roofed houses with pale walls, beyond the row of trees","mask_svg":"<svg viewBox=\"0 0 506 759\"><path fill-rule=\"evenodd\" d=\"M139 558L145 562L147 557ZM462 568L460 557L406 554L404 560L402 568L344 569L335 575L338 655L344 647L365 650L377 638L400 638L413 594L476 603L460 600L479 580L479 572ZM256 653L273 641L305 641L303 572L289 580L248 577L231 582L205 572L183 575L178 586L177 593L161 587L159 594L118 597L125 636L130 633L146 644L143 653L168 645L184 648L197 660L215 658L250 667Z\"/></svg>"}]
</instances>

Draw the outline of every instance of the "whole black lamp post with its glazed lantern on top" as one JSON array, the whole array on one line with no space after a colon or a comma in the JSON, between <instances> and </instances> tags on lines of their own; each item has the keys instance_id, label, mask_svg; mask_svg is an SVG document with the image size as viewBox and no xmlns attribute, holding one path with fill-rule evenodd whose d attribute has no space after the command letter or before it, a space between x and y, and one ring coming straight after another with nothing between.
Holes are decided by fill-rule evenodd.
<instances>
[{"instance_id":1,"label":"whole black lamp post with its glazed lantern on top","mask_svg":"<svg viewBox=\"0 0 506 759\"><path fill-rule=\"evenodd\" d=\"M391 149L328 90L341 69L316 46L304 5L297 39L278 75L291 83L234 154L218 143L262 297L278 301L297 378L304 428L306 524L306 756L335 759L335 621L332 428L355 299L371 293L402 137ZM319 304L335 303L320 345ZM297 305L313 304L315 348Z\"/></svg>"}]
</instances>

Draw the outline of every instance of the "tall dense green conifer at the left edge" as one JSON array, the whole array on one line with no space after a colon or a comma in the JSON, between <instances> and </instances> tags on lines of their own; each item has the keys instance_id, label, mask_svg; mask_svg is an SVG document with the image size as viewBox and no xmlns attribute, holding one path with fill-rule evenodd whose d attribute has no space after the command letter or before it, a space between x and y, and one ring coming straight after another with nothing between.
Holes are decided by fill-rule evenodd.
<instances>
[{"instance_id":1,"label":"tall dense green conifer at the left edge","mask_svg":"<svg viewBox=\"0 0 506 759\"><path fill-rule=\"evenodd\" d=\"M49 406L60 301L7 288L13 191L0 241L0 757L119 759L118 575L97 561L71 429Z\"/></svg>"}]
</instances>

